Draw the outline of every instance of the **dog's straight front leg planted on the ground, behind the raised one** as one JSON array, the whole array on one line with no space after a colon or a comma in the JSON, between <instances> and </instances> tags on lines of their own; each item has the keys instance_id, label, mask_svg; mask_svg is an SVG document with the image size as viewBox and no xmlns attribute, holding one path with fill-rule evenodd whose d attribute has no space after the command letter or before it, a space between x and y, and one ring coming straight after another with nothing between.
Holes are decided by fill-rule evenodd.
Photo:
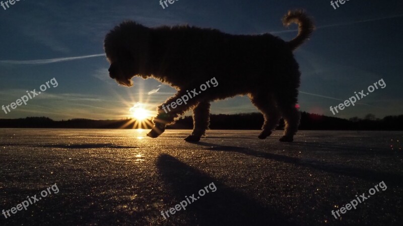
<instances>
[{"instance_id":1,"label":"dog's straight front leg planted on the ground, behind the raised one","mask_svg":"<svg viewBox=\"0 0 403 226\"><path fill-rule=\"evenodd\" d=\"M205 135L210 124L210 102L202 101L193 108L193 131L185 138L187 142L197 142Z\"/></svg>"}]
</instances>

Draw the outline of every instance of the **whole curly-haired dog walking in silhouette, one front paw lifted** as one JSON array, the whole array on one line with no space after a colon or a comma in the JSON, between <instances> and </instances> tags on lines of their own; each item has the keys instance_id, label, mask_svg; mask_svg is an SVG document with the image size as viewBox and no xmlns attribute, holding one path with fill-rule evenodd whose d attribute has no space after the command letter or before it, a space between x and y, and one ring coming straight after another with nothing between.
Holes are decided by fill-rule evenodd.
<instances>
[{"instance_id":1,"label":"whole curly-haired dog walking in silhouette, one front paw lifted","mask_svg":"<svg viewBox=\"0 0 403 226\"><path fill-rule=\"evenodd\" d=\"M220 87L168 113L159 105L149 137L161 135L165 125L192 108L194 128L185 140L199 141L209 127L211 101L247 94L264 116L258 138L270 136L283 117L286 127L280 141L292 142L300 120L295 107L300 72L293 50L310 37L314 26L303 11L288 12L283 23L298 24L296 38L286 42L271 34L230 35L189 26L147 28L126 21L105 37L109 76L124 86L132 86L131 78L136 75L171 85L178 91L164 105L213 77L220 82Z\"/></svg>"}]
</instances>

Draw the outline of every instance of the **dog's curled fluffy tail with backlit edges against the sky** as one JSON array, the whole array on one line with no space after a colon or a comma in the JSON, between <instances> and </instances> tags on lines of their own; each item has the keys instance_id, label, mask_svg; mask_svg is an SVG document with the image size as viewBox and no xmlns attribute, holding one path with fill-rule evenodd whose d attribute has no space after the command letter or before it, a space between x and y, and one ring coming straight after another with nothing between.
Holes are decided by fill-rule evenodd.
<instances>
[{"instance_id":1,"label":"dog's curled fluffy tail with backlit edges against the sky","mask_svg":"<svg viewBox=\"0 0 403 226\"><path fill-rule=\"evenodd\" d=\"M312 19L309 18L302 10L289 11L288 14L284 15L284 26L288 27L292 23L298 24L298 35L293 40L289 41L288 44L292 50L295 50L307 39L309 39L313 30L315 29L315 26L313 25Z\"/></svg>"}]
</instances>

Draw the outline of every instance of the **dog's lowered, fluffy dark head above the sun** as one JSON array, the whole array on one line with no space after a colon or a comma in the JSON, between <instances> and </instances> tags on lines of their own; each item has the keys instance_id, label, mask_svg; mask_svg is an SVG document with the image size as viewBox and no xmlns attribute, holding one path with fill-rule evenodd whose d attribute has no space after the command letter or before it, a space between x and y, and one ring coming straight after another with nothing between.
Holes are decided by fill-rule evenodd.
<instances>
[{"instance_id":1,"label":"dog's lowered, fluffy dark head above the sun","mask_svg":"<svg viewBox=\"0 0 403 226\"><path fill-rule=\"evenodd\" d=\"M135 75L142 75L148 58L149 28L126 21L110 31L104 41L110 63L109 76L120 85L132 86Z\"/></svg>"}]
</instances>

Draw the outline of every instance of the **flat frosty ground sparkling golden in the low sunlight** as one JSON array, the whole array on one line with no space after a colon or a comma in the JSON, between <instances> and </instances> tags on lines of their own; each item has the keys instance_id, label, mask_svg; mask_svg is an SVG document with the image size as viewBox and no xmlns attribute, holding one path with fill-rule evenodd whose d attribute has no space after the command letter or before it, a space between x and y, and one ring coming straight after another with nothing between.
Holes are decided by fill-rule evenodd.
<instances>
[{"instance_id":1,"label":"flat frosty ground sparkling golden in the low sunlight","mask_svg":"<svg viewBox=\"0 0 403 226\"><path fill-rule=\"evenodd\" d=\"M403 202L402 132L0 129L0 225L391 225ZM331 210L387 186L335 219ZM167 211L214 183L186 210ZM208 188L206 188L208 189ZM52 190L50 190L52 191ZM11 212L10 212L11 213ZM399 223L400 222L400 223Z\"/></svg>"}]
</instances>

